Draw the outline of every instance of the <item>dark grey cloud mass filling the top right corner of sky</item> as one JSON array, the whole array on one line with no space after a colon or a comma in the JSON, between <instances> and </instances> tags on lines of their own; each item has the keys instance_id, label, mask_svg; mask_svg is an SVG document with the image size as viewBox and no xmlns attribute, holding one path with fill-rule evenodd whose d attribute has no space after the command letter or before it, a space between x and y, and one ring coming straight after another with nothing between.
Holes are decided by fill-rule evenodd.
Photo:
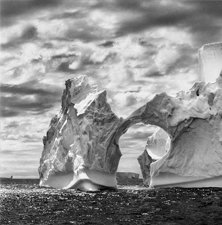
<instances>
[{"instance_id":1,"label":"dark grey cloud mass filling the top right corner of sky","mask_svg":"<svg viewBox=\"0 0 222 225\"><path fill-rule=\"evenodd\" d=\"M120 1L116 7L128 10L128 16L119 23L117 35L137 33L158 27L188 29L195 45L221 41L221 1ZM131 4L130 4L131 3ZM131 7L132 6L132 7Z\"/></svg>"}]
</instances>

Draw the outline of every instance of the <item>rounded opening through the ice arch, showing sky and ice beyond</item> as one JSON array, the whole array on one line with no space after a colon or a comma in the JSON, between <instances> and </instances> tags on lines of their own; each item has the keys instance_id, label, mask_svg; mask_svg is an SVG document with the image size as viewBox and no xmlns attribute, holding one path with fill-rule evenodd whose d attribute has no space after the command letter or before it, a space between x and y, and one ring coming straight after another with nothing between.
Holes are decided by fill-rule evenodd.
<instances>
[{"instance_id":1,"label":"rounded opening through the ice arch, showing sky and ice beyond","mask_svg":"<svg viewBox=\"0 0 222 225\"><path fill-rule=\"evenodd\" d=\"M159 126L142 122L130 126L119 139L122 157L117 169L117 181L121 176L127 184L141 184L143 180L143 184L149 186L150 165L166 155L170 144L170 136Z\"/></svg>"}]
</instances>

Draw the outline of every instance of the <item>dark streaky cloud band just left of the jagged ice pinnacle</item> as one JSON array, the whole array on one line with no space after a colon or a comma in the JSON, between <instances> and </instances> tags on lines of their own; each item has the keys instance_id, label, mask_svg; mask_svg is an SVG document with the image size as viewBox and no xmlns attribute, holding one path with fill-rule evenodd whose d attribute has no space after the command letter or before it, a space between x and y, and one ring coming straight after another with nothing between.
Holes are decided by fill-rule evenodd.
<instances>
[{"instance_id":1,"label":"dark streaky cloud band just left of the jagged ice pinnacle","mask_svg":"<svg viewBox=\"0 0 222 225\"><path fill-rule=\"evenodd\" d=\"M42 114L53 108L60 101L60 89L47 86L47 89L38 88L37 81L23 83L22 85L0 86L1 116L12 117L26 114Z\"/></svg>"}]
</instances>

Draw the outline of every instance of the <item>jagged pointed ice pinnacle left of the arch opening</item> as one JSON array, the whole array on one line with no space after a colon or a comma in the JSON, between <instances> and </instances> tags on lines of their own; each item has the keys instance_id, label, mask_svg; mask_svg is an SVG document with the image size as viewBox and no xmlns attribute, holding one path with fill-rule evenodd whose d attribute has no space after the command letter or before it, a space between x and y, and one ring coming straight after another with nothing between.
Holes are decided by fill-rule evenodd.
<instances>
[{"instance_id":1,"label":"jagged pointed ice pinnacle left of the arch opening","mask_svg":"<svg viewBox=\"0 0 222 225\"><path fill-rule=\"evenodd\" d=\"M65 85L61 111L43 137L40 186L115 188L121 152L110 143L121 119L111 111L106 91L98 90L86 76L67 80Z\"/></svg>"}]
</instances>

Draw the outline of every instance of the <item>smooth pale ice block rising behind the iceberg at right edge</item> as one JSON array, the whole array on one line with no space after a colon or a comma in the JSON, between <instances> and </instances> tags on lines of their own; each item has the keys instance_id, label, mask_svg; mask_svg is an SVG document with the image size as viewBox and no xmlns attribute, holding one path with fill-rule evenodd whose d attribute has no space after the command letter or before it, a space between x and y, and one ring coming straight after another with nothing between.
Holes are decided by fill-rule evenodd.
<instances>
[{"instance_id":1,"label":"smooth pale ice block rising behind the iceberg at right edge","mask_svg":"<svg viewBox=\"0 0 222 225\"><path fill-rule=\"evenodd\" d=\"M206 44L199 50L201 79L213 83L222 71L222 43Z\"/></svg>"}]
</instances>

